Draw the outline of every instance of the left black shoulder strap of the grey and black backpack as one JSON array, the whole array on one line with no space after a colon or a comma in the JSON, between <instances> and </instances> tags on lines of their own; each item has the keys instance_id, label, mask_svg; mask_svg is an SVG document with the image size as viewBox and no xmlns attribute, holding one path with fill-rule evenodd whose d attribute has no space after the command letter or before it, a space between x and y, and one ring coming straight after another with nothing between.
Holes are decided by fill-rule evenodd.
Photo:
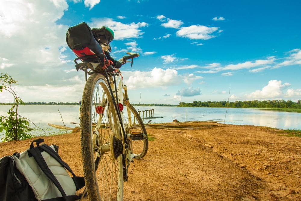
<instances>
[{"instance_id":1,"label":"left black shoulder strap of the grey and black backpack","mask_svg":"<svg viewBox=\"0 0 301 201\"><path fill-rule=\"evenodd\" d=\"M28 149L28 151L33 155L34 159L36 160L37 164L41 168L41 170L44 172L44 174L53 182L53 184L58 188L58 190L61 192L63 199L65 201L68 201L67 195L65 191L63 190L61 184L57 181L57 178L54 176L54 174L49 169L47 163L45 162L40 150L38 147L34 147L33 149Z\"/></svg>"}]
</instances>

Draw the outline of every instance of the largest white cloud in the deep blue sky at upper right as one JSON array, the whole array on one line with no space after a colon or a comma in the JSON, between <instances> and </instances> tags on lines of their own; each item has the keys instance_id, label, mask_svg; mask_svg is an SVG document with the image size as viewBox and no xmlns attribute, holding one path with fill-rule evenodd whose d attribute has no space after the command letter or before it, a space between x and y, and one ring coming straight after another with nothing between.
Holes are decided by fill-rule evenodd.
<instances>
[{"instance_id":1,"label":"largest white cloud in the deep blue sky at upper right","mask_svg":"<svg viewBox=\"0 0 301 201\"><path fill-rule=\"evenodd\" d=\"M208 40L210 38L216 37L210 34L217 31L218 29L219 29L218 27L191 25L189 27L181 27L180 30L176 32L176 35L180 37L189 38L189 39Z\"/></svg>"}]
</instances>

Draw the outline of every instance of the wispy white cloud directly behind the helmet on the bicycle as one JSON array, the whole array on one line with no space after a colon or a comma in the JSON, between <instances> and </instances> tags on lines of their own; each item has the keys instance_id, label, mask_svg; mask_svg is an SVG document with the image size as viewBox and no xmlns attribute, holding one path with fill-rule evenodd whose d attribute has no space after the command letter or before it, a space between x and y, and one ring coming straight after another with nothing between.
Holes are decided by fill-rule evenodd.
<instances>
[{"instance_id":1,"label":"wispy white cloud directly behind the helmet on the bicycle","mask_svg":"<svg viewBox=\"0 0 301 201\"><path fill-rule=\"evenodd\" d=\"M132 22L129 24L123 24L121 22L114 21L111 18L94 18L92 19L91 27L110 27L114 33L114 40L123 40L128 38L138 38L144 32L141 32L139 28L146 27L148 24L146 22Z\"/></svg>"}]
</instances>

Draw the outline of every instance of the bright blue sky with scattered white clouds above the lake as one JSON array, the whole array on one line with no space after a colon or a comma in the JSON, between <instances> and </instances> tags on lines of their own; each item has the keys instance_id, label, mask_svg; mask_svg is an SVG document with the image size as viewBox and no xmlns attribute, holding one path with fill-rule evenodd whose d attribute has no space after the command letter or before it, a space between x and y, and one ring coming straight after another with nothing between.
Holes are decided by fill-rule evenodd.
<instances>
[{"instance_id":1,"label":"bright blue sky with scattered white clouds above the lake","mask_svg":"<svg viewBox=\"0 0 301 201\"><path fill-rule=\"evenodd\" d=\"M82 21L115 31L132 102L301 99L300 1L4 0L0 72L24 101L77 102L84 73L65 33ZM0 102L9 102L2 93Z\"/></svg>"}]
</instances>

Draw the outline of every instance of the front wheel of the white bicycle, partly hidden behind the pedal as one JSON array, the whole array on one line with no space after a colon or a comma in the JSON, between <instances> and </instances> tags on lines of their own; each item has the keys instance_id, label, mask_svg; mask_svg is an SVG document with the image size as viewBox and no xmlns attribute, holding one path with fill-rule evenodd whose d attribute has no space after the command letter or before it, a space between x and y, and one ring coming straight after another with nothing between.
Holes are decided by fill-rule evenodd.
<instances>
[{"instance_id":1,"label":"front wheel of the white bicycle, partly hidden behind the pedal","mask_svg":"<svg viewBox=\"0 0 301 201\"><path fill-rule=\"evenodd\" d=\"M131 145L132 152L135 154L135 159L141 159L146 155L148 149L147 132L140 115L133 105L126 100L123 100L123 103L126 105L127 109L127 112L123 113L123 121L125 123L124 126L129 129L129 133L140 132L146 135L146 139L133 140Z\"/></svg>"}]
</instances>

